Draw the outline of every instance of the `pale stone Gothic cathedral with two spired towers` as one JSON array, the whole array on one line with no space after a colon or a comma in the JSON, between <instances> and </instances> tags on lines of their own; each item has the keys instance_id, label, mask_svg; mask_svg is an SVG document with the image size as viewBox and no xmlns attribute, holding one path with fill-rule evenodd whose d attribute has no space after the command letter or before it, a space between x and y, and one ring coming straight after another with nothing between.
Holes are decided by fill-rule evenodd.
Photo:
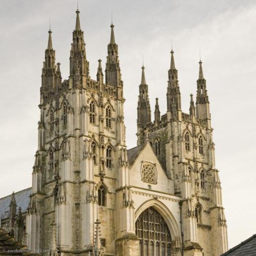
<instances>
[{"instance_id":1,"label":"pale stone Gothic cathedral with two spired towers","mask_svg":"<svg viewBox=\"0 0 256 256\"><path fill-rule=\"evenodd\" d=\"M49 30L32 187L0 199L0 234L41 255L219 256L228 250L227 225L202 61L186 114L170 51L167 108L161 115L156 98L154 121L142 66L137 146L127 149L125 84L110 27L96 80L79 10L66 80Z\"/></svg>"}]
</instances>

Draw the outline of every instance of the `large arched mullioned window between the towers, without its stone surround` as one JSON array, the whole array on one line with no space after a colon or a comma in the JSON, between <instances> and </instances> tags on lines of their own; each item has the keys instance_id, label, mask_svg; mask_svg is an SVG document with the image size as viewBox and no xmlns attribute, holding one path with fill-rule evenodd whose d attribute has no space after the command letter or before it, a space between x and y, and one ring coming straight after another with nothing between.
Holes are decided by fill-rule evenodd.
<instances>
[{"instance_id":1,"label":"large arched mullioned window between the towers, without its stone surround","mask_svg":"<svg viewBox=\"0 0 256 256\"><path fill-rule=\"evenodd\" d=\"M148 207L142 211L135 223L135 228L140 240L140 255L171 255L172 238L170 230L155 208Z\"/></svg>"}]
</instances>

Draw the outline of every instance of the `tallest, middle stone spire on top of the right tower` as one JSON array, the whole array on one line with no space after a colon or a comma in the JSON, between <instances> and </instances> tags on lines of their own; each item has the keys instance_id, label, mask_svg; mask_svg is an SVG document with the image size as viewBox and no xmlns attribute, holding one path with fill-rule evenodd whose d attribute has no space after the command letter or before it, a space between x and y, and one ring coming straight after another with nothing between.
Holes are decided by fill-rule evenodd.
<instances>
[{"instance_id":1,"label":"tallest, middle stone spire on top of the right tower","mask_svg":"<svg viewBox=\"0 0 256 256\"><path fill-rule=\"evenodd\" d=\"M172 112L172 116L177 116L177 111L181 110L181 98L178 71L175 68L173 49L170 51L170 69L168 70L168 87L166 96L167 111Z\"/></svg>"}]
</instances>

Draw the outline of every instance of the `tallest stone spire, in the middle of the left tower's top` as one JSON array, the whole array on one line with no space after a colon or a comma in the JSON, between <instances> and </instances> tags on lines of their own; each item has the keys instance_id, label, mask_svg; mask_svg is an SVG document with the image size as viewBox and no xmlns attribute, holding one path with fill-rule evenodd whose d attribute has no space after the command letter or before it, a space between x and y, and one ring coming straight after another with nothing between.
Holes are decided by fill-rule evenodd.
<instances>
[{"instance_id":1,"label":"tallest stone spire, in the middle of the left tower's top","mask_svg":"<svg viewBox=\"0 0 256 256\"><path fill-rule=\"evenodd\" d=\"M83 31L80 27L79 10L76 10L76 26L73 31L73 43L70 51L70 77L73 85L76 83L86 87L86 78L89 78L89 61L86 58L86 44L83 38ZM77 69L79 72L77 72ZM79 77L75 75L79 73Z\"/></svg>"}]
</instances>

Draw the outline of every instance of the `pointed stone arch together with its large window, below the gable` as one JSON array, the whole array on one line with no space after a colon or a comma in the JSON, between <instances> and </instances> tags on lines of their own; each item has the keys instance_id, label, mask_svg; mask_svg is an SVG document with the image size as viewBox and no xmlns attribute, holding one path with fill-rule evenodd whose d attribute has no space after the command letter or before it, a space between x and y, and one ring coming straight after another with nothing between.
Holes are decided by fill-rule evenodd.
<instances>
[{"instance_id":1,"label":"pointed stone arch together with its large window, below the gable","mask_svg":"<svg viewBox=\"0 0 256 256\"><path fill-rule=\"evenodd\" d=\"M172 212L158 199L144 202L135 212L140 254L180 255L181 235Z\"/></svg>"}]
</instances>

